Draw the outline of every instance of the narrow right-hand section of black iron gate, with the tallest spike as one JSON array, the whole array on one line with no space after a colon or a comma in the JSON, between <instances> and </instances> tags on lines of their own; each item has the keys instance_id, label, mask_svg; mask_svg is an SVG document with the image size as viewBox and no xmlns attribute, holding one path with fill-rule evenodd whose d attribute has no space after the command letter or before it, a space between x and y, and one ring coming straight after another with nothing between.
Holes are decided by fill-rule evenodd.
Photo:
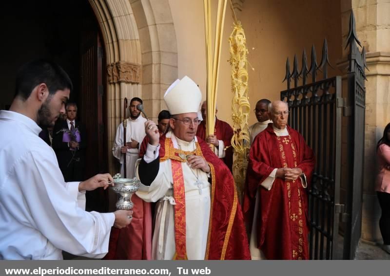
<instances>
[{"instance_id":1,"label":"narrow right-hand section of black iron gate, with the tallest spike","mask_svg":"<svg viewBox=\"0 0 390 276\"><path fill-rule=\"evenodd\" d=\"M344 259L353 259L359 244L362 228L364 134L366 111L365 68L366 50L356 36L355 18L351 13L350 30L347 36L348 55L348 182L346 216L347 227L344 235Z\"/></svg>"}]
</instances>

